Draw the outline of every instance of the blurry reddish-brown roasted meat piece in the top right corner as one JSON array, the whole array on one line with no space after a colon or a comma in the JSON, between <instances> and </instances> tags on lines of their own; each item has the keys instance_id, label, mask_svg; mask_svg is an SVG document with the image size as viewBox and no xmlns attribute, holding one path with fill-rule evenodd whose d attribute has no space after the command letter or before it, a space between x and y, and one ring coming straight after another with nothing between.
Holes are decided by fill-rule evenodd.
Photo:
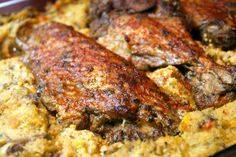
<instances>
[{"instance_id":1,"label":"blurry reddish-brown roasted meat piece in the top right corner","mask_svg":"<svg viewBox=\"0 0 236 157\"><path fill-rule=\"evenodd\" d=\"M181 11L191 25L201 32L206 43L217 47L236 47L235 0L180 0Z\"/></svg>"}]
</instances>

